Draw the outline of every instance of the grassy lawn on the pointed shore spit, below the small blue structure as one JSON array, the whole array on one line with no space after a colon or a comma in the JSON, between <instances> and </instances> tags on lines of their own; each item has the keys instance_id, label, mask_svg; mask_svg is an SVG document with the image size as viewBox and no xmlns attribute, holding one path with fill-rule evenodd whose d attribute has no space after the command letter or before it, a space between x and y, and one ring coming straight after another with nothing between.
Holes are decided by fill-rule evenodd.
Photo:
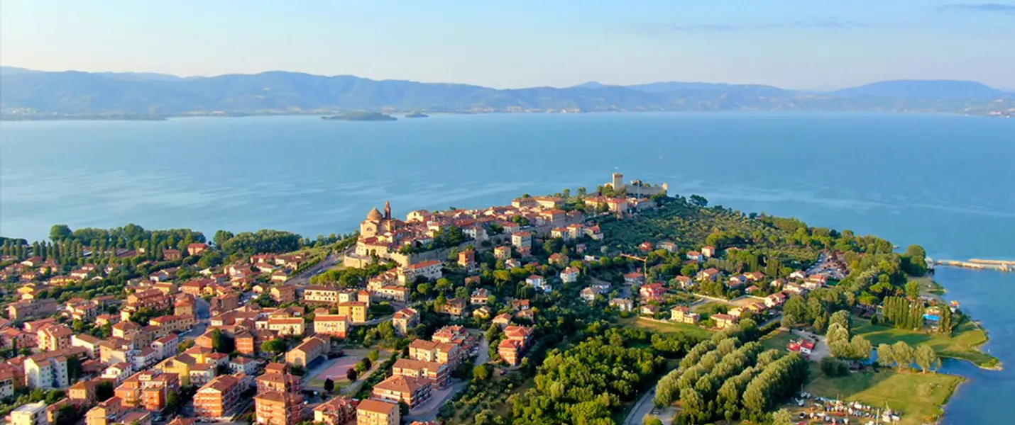
<instances>
[{"instance_id":1,"label":"grassy lawn on the pointed shore spit, below the small blue structure","mask_svg":"<svg viewBox=\"0 0 1015 425\"><path fill-rule=\"evenodd\" d=\"M857 318L853 320L853 331L856 335L863 335L875 347L882 343L891 344L895 341L905 341L913 346L930 345L941 357L969 360L980 367L1000 366L996 357L980 351L978 348L987 342L987 333L968 320L955 327L951 336L894 329L880 325L871 326L870 321Z\"/></svg>"}]
</instances>

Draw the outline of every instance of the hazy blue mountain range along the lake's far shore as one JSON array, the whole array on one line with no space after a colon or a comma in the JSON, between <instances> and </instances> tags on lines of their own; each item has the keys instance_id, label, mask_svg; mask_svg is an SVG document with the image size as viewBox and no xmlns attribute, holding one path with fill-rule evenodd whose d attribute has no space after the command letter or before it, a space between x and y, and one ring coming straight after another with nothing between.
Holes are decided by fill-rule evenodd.
<instances>
[{"instance_id":1,"label":"hazy blue mountain range along the lake's far shore","mask_svg":"<svg viewBox=\"0 0 1015 425\"><path fill-rule=\"evenodd\" d=\"M215 77L45 72L0 67L4 117L328 113L336 111L595 112L851 110L988 113L1015 93L972 81L883 81L834 91L659 82L494 89L272 71Z\"/></svg>"}]
</instances>

